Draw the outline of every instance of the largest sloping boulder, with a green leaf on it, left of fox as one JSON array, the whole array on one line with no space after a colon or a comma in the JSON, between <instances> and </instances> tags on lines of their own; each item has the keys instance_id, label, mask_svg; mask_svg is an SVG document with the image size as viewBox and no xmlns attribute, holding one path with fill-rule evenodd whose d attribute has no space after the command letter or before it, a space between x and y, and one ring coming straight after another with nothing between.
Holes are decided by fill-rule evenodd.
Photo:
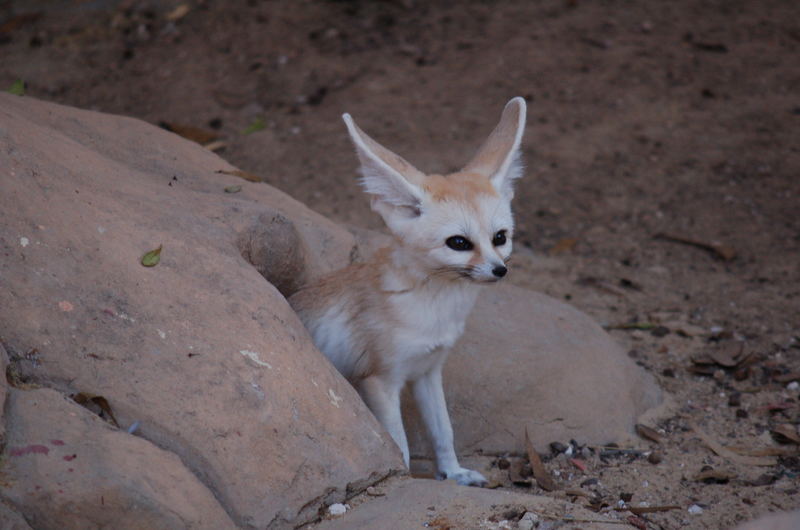
<instances>
[{"instance_id":1,"label":"largest sloping boulder, with a green leaf on it, left of fox","mask_svg":"<svg viewBox=\"0 0 800 530\"><path fill-rule=\"evenodd\" d=\"M104 397L243 528L308 521L402 467L273 286L349 263L349 233L135 119L0 94L0 152L18 382Z\"/></svg>"}]
</instances>

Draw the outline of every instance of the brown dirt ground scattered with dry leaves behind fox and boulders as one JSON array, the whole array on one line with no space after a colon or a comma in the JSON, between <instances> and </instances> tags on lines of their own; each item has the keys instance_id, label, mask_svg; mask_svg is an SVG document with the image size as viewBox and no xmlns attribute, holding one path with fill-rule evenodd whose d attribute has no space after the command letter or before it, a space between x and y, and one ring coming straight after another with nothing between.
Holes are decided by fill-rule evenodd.
<instances>
[{"instance_id":1,"label":"brown dirt ground scattered with dry leaves behind fox and boulders","mask_svg":"<svg viewBox=\"0 0 800 530\"><path fill-rule=\"evenodd\" d=\"M678 507L640 528L800 507L798 446L773 434L796 437L800 415L797 2L0 0L0 24L0 86L205 129L242 169L372 228L342 112L448 171L524 96L510 281L616 328L676 403L661 443L551 457L547 494Z\"/></svg>"}]
</instances>

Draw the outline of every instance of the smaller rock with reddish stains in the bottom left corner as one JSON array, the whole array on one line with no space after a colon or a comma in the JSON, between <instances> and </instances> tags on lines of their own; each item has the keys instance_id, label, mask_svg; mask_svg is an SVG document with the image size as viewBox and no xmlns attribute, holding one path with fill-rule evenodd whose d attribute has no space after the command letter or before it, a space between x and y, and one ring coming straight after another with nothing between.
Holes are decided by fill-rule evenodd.
<instances>
[{"instance_id":1,"label":"smaller rock with reddish stains in the bottom left corner","mask_svg":"<svg viewBox=\"0 0 800 530\"><path fill-rule=\"evenodd\" d=\"M6 423L3 496L37 529L236 528L177 456L55 390L12 389Z\"/></svg>"}]
</instances>

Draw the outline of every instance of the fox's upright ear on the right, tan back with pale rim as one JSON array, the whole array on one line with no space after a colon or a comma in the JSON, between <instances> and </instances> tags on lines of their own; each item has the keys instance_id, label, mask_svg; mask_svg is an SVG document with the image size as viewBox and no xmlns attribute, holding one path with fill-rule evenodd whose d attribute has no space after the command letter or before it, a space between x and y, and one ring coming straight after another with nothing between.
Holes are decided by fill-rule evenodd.
<instances>
[{"instance_id":1,"label":"fox's upright ear on the right, tan back with pale rim","mask_svg":"<svg viewBox=\"0 0 800 530\"><path fill-rule=\"evenodd\" d=\"M519 145L525 132L525 100L516 97L506 104L492 134L463 171L485 175L503 197L514 196L514 179L522 176Z\"/></svg>"}]
</instances>

